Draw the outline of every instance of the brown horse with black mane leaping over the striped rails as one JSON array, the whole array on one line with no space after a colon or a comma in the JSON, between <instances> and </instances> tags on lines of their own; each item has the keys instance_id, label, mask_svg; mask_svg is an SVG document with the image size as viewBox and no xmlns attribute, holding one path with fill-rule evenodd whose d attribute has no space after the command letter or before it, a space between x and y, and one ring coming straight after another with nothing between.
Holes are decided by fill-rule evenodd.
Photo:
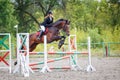
<instances>
[{"instance_id":1,"label":"brown horse with black mane leaping over the striped rails","mask_svg":"<svg viewBox=\"0 0 120 80\"><path fill-rule=\"evenodd\" d=\"M47 26L44 35L47 36L47 43L60 40L58 48L64 44L66 36L61 36L60 31L66 33L67 36L70 35L70 21L66 19L59 19L56 22ZM37 39L37 33L32 33L29 35L29 51L32 52L38 44L44 43L44 37L42 36L40 40Z\"/></svg>"}]
</instances>

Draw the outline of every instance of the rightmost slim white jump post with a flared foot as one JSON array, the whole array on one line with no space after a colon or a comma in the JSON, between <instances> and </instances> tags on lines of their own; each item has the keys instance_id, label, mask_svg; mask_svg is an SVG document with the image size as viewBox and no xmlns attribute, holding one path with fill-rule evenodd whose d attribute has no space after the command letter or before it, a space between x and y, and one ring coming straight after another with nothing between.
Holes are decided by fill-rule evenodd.
<instances>
[{"instance_id":1,"label":"rightmost slim white jump post with a flared foot","mask_svg":"<svg viewBox=\"0 0 120 80\"><path fill-rule=\"evenodd\" d=\"M87 72L93 72L93 71L96 71L96 69L92 66L92 63L91 63L91 50L90 50L90 37L88 37L88 67L87 67Z\"/></svg>"}]
</instances>

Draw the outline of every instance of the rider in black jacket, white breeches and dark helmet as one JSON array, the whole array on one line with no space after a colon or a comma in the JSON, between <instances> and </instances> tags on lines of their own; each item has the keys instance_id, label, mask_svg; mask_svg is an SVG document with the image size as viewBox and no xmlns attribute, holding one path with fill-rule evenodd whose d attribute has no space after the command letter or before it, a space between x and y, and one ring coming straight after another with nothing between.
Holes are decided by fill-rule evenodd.
<instances>
[{"instance_id":1,"label":"rider in black jacket, white breeches and dark helmet","mask_svg":"<svg viewBox=\"0 0 120 80\"><path fill-rule=\"evenodd\" d=\"M42 34L45 32L45 27L47 27L51 23L53 23L53 13L52 11L49 11L47 13L47 16L45 16L44 21L40 24L41 31L40 31L40 35L38 36L38 40L40 40Z\"/></svg>"}]
</instances>

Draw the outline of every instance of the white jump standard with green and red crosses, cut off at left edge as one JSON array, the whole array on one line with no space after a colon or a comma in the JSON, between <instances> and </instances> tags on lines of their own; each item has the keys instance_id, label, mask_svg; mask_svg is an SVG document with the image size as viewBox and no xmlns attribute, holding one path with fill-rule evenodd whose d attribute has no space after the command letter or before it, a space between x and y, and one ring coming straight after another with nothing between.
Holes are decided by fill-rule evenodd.
<instances>
[{"instance_id":1,"label":"white jump standard with green and red crosses, cut off at left edge","mask_svg":"<svg viewBox=\"0 0 120 80\"><path fill-rule=\"evenodd\" d=\"M0 33L0 63L4 63L3 66L0 66L0 69L9 69L11 73L11 36L10 33ZM6 57L8 56L8 61Z\"/></svg>"}]
</instances>

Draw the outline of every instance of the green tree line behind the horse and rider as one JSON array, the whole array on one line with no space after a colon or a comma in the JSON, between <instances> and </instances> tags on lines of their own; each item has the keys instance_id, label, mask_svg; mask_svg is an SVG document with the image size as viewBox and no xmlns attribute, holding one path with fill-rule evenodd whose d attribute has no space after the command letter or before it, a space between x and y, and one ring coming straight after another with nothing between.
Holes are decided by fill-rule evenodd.
<instances>
[{"instance_id":1,"label":"green tree line behind the horse and rider","mask_svg":"<svg viewBox=\"0 0 120 80\"><path fill-rule=\"evenodd\" d=\"M18 32L35 32L49 10L55 20L69 19L79 33L97 34L101 41L111 34L107 36L117 38L112 41L120 40L120 0L0 0L0 32L15 35L15 25Z\"/></svg>"}]
</instances>

